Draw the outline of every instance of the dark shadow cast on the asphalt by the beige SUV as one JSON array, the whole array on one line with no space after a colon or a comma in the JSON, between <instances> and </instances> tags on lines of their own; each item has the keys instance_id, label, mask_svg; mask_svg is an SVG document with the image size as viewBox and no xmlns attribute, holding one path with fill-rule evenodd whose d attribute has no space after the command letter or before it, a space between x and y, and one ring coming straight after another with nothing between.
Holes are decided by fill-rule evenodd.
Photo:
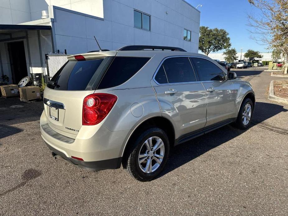
<instances>
[{"instance_id":1,"label":"dark shadow cast on the asphalt by the beige SUV","mask_svg":"<svg viewBox=\"0 0 288 216\"><path fill-rule=\"evenodd\" d=\"M256 102L253 121L251 122L250 128L259 124L262 129L267 130L267 133L271 133L271 131L273 131L279 134L288 135L288 131L285 128L281 129L267 123L263 123L264 120L267 120L281 112L287 111L288 110L284 109L283 106L277 104ZM196 157L201 156L202 154L217 146L220 146L221 144L239 136L244 132L245 130L235 129L231 125L226 125L220 129L211 131L208 134L204 134L186 143L175 146L170 151L167 165L158 177L161 177L174 169L181 167L187 162L192 161Z\"/></svg>"}]
</instances>

